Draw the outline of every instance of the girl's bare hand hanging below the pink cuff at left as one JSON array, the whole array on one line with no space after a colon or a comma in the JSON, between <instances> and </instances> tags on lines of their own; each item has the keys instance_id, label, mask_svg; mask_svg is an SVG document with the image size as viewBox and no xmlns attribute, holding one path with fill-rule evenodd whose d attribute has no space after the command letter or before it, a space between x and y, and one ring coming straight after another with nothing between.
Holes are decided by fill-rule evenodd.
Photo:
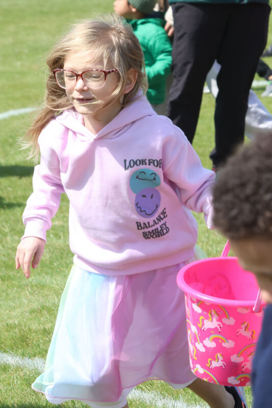
<instances>
[{"instance_id":1,"label":"girl's bare hand hanging below the pink cuff at left","mask_svg":"<svg viewBox=\"0 0 272 408\"><path fill-rule=\"evenodd\" d=\"M23 238L17 247L15 262L16 269L22 268L24 275L30 277L30 264L32 268L37 268L41 260L45 241L41 238Z\"/></svg>"}]
</instances>

